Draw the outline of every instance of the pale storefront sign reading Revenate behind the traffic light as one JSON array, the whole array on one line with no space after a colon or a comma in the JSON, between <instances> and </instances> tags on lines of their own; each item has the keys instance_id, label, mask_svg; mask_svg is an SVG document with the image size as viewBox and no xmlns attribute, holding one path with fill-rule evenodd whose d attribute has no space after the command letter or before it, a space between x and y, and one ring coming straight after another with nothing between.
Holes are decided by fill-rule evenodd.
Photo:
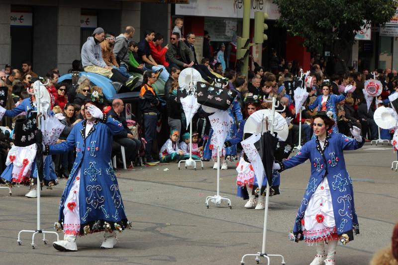
<instances>
[{"instance_id":1,"label":"pale storefront sign reading Revenate behind the traffic light","mask_svg":"<svg viewBox=\"0 0 398 265\"><path fill-rule=\"evenodd\" d=\"M268 13L269 19L280 17L278 5L272 0L251 0L250 18L254 18L255 11ZM190 0L189 4L176 4L177 15L215 16L215 17L243 17L243 0Z\"/></svg>"}]
</instances>

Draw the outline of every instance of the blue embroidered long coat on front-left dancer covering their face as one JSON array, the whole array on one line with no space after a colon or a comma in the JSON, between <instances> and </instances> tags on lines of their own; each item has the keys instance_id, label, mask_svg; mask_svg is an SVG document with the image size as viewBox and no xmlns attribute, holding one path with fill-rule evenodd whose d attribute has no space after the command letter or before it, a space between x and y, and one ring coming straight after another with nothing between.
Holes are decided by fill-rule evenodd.
<instances>
[{"instance_id":1,"label":"blue embroidered long coat on front-left dancer covering their face","mask_svg":"<svg viewBox=\"0 0 398 265\"><path fill-rule=\"evenodd\" d=\"M77 152L61 196L59 223L62 224L64 220L64 203L80 168L80 234L104 230L104 222L110 224L112 229L117 225L124 229L128 226L127 218L110 162L112 135L123 130L122 124L104 115L101 120L97 119L86 137L86 123L87 120L83 120L76 124L65 142L45 146L44 153L50 155L65 153L72 148L76 148ZM118 229L120 228L117 227L116 230Z\"/></svg>"}]
</instances>

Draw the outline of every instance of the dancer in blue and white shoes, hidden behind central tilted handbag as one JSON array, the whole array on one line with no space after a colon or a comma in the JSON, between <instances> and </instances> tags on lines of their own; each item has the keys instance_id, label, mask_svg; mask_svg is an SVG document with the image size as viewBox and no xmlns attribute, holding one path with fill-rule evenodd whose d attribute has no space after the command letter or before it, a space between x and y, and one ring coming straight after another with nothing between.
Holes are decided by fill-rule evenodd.
<instances>
[{"instance_id":1,"label":"dancer in blue and white shoes, hidden behind central tilted handbag","mask_svg":"<svg viewBox=\"0 0 398 265\"><path fill-rule=\"evenodd\" d=\"M237 100L237 97L235 96L234 100L232 101L231 105L228 107L227 109L229 116L231 116L234 120L236 117L236 121L238 122L238 124L243 120L243 115L242 115L242 111L240 109L240 105L239 102ZM231 125L231 128L229 129L228 133L227 133L227 138L226 140L231 139L232 137L234 137L237 133L237 127L236 127L236 123L233 122ZM203 151L203 158L204 159L215 159L215 157L212 157L212 151L210 150L210 142L211 142L211 135L213 134L213 129L210 129L209 132L209 137L207 139L207 143L204 147L204 151ZM221 159L221 169L222 170L227 170L228 169L228 164L227 164L227 160L225 158L230 157L231 159L233 157L236 156L236 144L233 144L231 146L225 147L225 152L222 152L221 154L224 154L225 156L222 156ZM217 169L217 162L214 162L214 166L213 169Z\"/></svg>"}]
</instances>

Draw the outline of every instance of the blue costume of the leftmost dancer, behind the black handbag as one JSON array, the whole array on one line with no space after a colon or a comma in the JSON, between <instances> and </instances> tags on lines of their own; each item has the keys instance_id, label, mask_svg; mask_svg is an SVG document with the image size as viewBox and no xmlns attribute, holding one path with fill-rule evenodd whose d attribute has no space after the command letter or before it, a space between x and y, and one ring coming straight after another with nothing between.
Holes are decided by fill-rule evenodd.
<instances>
[{"instance_id":1,"label":"blue costume of the leftmost dancer, behind the black handbag","mask_svg":"<svg viewBox=\"0 0 398 265\"><path fill-rule=\"evenodd\" d=\"M14 117L22 112L26 112L29 110L36 110L36 107L33 105L33 101L31 98L25 98L17 107L11 110L6 110L4 116ZM13 169L13 164L11 163L6 167L4 172L1 174L1 178L3 178L8 182L11 182L12 169ZM35 162L33 162L32 164L31 177L37 178L37 168ZM43 161L43 182L45 185L58 183L57 175L55 174L55 170L53 168L53 161L51 159L51 156L47 156Z\"/></svg>"}]
</instances>

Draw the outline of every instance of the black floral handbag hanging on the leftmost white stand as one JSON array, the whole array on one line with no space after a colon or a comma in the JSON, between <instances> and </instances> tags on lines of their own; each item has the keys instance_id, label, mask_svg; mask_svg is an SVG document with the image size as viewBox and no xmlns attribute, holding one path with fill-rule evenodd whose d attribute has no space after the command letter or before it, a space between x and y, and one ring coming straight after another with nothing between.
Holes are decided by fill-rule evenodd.
<instances>
[{"instance_id":1,"label":"black floral handbag hanging on the leftmost white stand","mask_svg":"<svg viewBox=\"0 0 398 265\"><path fill-rule=\"evenodd\" d=\"M25 147L36 143L36 115L36 113L28 111L25 119L15 121L14 134L12 135L15 146Z\"/></svg>"}]
</instances>

